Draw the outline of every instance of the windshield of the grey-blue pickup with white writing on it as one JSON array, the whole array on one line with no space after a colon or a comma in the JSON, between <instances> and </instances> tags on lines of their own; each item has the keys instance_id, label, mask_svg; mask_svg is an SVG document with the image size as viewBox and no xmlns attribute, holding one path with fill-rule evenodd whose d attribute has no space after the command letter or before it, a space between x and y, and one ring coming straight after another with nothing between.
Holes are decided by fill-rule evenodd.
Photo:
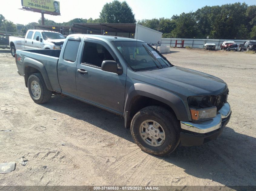
<instances>
[{"instance_id":1,"label":"windshield of the grey-blue pickup with white writing on it","mask_svg":"<svg viewBox=\"0 0 256 191\"><path fill-rule=\"evenodd\" d=\"M113 42L128 65L135 72L155 70L172 66L171 63L157 50L147 43L136 41Z\"/></svg>"}]
</instances>

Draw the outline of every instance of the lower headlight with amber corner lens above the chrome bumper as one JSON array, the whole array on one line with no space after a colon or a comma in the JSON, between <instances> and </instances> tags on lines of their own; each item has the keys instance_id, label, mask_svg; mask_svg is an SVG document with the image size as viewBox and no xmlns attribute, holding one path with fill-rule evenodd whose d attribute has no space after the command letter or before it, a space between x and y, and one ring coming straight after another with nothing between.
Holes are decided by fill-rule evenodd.
<instances>
[{"instance_id":1,"label":"lower headlight with amber corner lens above the chrome bumper","mask_svg":"<svg viewBox=\"0 0 256 191\"><path fill-rule=\"evenodd\" d=\"M189 108L192 121L200 121L203 119L209 119L216 116L217 107L210 107L205 109Z\"/></svg>"}]
</instances>

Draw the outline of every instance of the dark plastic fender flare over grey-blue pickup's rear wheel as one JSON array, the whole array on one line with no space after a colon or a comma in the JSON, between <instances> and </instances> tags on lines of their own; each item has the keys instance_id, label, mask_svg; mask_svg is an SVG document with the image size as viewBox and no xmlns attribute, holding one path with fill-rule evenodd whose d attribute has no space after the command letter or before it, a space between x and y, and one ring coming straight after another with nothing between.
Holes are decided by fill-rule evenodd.
<instances>
[{"instance_id":1,"label":"dark plastic fender flare over grey-blue pickup's rear wheel","mask_svg":"<svg viewBox=\"0 0 256 191\"><path fill-rule=\"evenodd\" d=\"M50 91L53 91L52 90L52 85L50 83L50 80L48 78L48 74L47 74L46 69L45 69L45 66L41 62L39 62L35 59L32 59L32 58L25 58L23 60L23 70L24 70L23 74L24 74L24 78L25 78L26 87L28 87L28 77L29 77L29 74L26 73L26 68L27 67L32 67L32 68L37 69L42 74L47 89L50 90Z\"/></svg>"}]
</instances>

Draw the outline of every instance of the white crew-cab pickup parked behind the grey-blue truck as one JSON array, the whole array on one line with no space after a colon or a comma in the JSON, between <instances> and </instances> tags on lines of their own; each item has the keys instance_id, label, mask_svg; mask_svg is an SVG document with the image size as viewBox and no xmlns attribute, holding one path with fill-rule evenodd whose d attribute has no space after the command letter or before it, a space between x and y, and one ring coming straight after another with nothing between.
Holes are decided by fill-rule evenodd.
<instances>
[{"instance_id":1,"label":"white crew-cab pickup parked behind the grey-blue truck","mask_svg":"<svg viewBox=\"0 0 256 191\"><path fill-rule=\"evenodd\" d=\"M61 49L65 37L49 30L28 30L25 38L9 37L12 56L22 49Z\"/></svg>"}]
</instances>

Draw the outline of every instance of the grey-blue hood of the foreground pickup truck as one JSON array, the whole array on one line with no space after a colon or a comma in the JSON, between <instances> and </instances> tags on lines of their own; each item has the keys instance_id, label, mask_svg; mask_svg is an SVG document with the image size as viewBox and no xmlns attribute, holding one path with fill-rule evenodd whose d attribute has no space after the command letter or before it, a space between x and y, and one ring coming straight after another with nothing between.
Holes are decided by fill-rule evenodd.
<instances>
[{"instance_id":1,"label":"grey-blue hood of the foreground pickup truck","mask_svg":"<svg viewBox=\"0 0 256 191\"><path fill-rule=\"evenodd\" d=\"M220 78L178 66L139 73L149 77L145 83L186 96L218 95L228 88Z\"/></svg>"}]
</instances>

